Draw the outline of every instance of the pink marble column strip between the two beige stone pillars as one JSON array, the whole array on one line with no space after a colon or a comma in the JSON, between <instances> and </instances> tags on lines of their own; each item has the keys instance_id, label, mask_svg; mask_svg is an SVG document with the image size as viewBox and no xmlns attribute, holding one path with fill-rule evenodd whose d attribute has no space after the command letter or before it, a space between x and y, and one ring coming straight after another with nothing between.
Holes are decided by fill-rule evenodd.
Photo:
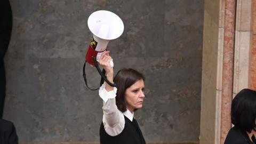
<instances>
[{"instance_id":1,"label":"pink marble column strip between the two beige stone pillars","mask_svg":"<svg viewBox=\"0 0 256 144\"><path fill-rule=\"evenodd\" d=\"M221 98L221 144L224 143L227 133L231 127L230 111L233 92L235 13L236 1L226 0Z\"/></svg>"}]
</instances>

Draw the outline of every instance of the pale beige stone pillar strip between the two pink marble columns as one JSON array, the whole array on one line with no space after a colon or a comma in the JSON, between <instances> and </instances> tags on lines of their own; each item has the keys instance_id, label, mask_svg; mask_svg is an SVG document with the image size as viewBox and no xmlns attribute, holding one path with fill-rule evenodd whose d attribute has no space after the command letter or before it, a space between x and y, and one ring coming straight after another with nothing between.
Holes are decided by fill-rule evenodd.
<instances>
[{"instance_id":1,"label":"pale beige stone pillar strip between the two pink marble columns","mask_svg":"<svg viewBox=\"0 0 256 144\"><path fill-rule=\"evenodd\" d=\"M233 96L249 86L251 4L251 0L237 1Z\"/></svg>"}]
</instances>

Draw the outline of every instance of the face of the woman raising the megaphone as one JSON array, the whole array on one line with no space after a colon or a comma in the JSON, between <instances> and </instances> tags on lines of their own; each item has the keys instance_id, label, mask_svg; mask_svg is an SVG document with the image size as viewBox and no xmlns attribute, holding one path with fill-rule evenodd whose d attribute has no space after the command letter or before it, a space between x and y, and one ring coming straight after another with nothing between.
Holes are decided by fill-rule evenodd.
<instances>
[{"instance_id":1,"label":"face of the woman raising the megaphone","mask_svg":"<svg viewBox=\"0 0 256 144\"><path fill-rule=\"evenodd\" d=\"M144 81L141 79L126 89L124 98L126 107L131 112L133 112L134 109L142 108L143 99L145 97L143 92L144 87Z\"/></svg>"}]
</instances>

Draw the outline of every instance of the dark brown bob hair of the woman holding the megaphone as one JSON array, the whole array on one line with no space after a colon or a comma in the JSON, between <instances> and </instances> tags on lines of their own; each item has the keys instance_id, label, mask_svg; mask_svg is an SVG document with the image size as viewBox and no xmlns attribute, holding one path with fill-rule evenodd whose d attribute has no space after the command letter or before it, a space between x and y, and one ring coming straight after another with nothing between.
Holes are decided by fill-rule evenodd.
<instances>
[{"instance_id":1,"label":"dark brown bob hair of the woman holding the megaphone","mask_svg":"<svg viewBox=\"0 0 256 144\"><path fill-rule=\"evenodd\" d=\"M124 98L126 89L141 79L145 81L145 77L139 73L139 71L131 68L124 68L117 72L114 78L114 83L117 85L116 106L120 111L126 111L126 102Z\"/></svg>"}]
</instances>

